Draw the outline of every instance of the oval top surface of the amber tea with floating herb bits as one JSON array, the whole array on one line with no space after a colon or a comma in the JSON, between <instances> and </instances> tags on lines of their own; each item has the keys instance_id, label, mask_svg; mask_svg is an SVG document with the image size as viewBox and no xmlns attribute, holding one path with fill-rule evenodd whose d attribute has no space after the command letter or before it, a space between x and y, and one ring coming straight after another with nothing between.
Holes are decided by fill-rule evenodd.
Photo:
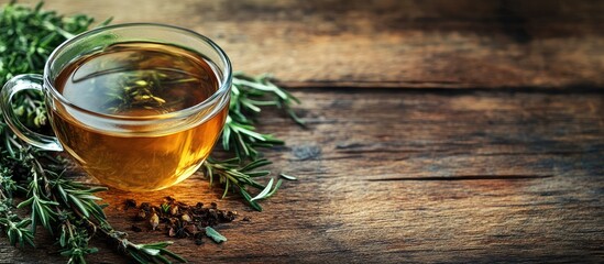
<instances>
[{"instance_id":1,"label":"oval top surface of the amber tea with floating herb bits","mask_svg":"<svg viewBox=\"0 0 604 264\"><path fill-rule=\"evenodd\" d=\"M117 43L67 66L56 79L72 103L102 114L155 116L196 106L218 90L201 55L146 42Z\"/></svg>"}]
</instances>

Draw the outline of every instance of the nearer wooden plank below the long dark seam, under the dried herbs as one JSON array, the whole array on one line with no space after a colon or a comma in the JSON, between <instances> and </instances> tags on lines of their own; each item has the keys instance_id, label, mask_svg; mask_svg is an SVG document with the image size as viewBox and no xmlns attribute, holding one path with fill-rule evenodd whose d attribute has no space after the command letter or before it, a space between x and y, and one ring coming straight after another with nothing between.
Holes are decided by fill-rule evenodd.
<instances>
[{"instance_id":1,"label":"nearer wooden plank below the long dark seam, under the dried herbs","mask_svg":"<svg viewBox=\"0 0 604 264\"><path fill-rule=\"evenodd\" d=\"M604 261L601 92L295 95L309 129L274 112L261 129L288 142L268 153L273 170L299 180L264 201L264 212L218 200L195 176L157 193L102 195L110 221L124 230L133 223L125 196L160 202L166 195L218 201L252 218L218 227L229 239L220 245L176 241L172 249L193 263ZM138 242L157 239L132 233ZM1 241L2 260L14 262L36 262L54 249L32 254ZM120 263L99 246L94 263Z\"/></svg>"}]
</instances>

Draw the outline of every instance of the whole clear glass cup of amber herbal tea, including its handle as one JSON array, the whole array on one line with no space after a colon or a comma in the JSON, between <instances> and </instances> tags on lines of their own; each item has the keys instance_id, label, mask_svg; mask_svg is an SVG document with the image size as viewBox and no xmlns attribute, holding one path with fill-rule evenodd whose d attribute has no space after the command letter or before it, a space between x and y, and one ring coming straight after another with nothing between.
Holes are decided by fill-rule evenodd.
<instances>
[{"instance_id":1,"label":"whole clear glass cup of amber herbal tea, including its handle","mask_svg":"<svg viewBox=\"0 0 604 264\"><path fill-rule=\"evenodd\" d=\"M231 66L197 33L157 24L94 30L62 44L44 76L22 75L2 90L11 129L44 150L65 150L102 184L156 190L194 174L227 117ZM19 123L14 94L42 90L56 138Z\"/></svg>"}]
</instances>

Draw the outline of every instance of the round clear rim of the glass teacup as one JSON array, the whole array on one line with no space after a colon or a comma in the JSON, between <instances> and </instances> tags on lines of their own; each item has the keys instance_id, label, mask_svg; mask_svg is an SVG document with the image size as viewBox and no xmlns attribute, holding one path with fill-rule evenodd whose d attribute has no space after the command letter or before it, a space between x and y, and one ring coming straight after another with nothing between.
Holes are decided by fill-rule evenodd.
<instances>
[{"instance_id":1,"label":"round clear rim of the glass teacup","mask_svg":"<svg viewBox=\"0 0 604 264\"><path fill-rule=\"evenodd\" d=\"M85 109L85 108L81 108L81 107L78 107L78 106L74 105L73 102L67 100L63 95L61 95L61 92L58 92L58 90L55 88L53 81L51 80L51 64L52 64L52 62L54 62L56 59L57 56L59 56L62 54L63 51L68 50L69 46L73 43L75 43L75 42L77 42L81 38L85 38L87 36L96 35L96 34L101 33L101 32L108 32L108 31L111 31L113 29L136 28L136 26L151 26L151 28L163 28L163 29L167 29L167 30L174 30L174 31L180 32L183 34L188 34L189 36L194 36L196 38L199 38L200 41L202 41L206 44L210 45L211 48L213 48L217 52L218 56L220 57L220 61L222 61L222 63L224 64L224 69L221 70L222 72L222 76L221 76L222 81L219 79L219 82L221 82L221 84L220 84L220 87L218 88L218 90L216 90L206 100L204 100L204 101L201 101L201 102L199 102L199 103L197 103L193 107L188 107L188 108L180 109L180 110L173 111L173 112L168 112L168 113L142 116L142 117L116 116L116 114L106 114L106 113L100 113L100 112L96 112L96 111L90 111L88 109ZM116 43L119 43L119 42L116 42ZM215 73L215 74L218 75L218 73ZM213 41L211 41L207 36L201 35L201 34L199 34L195 31L187 30L187 29L179 28L179 26L174 26L174 25L160 24L160 23L124 23L124 24L114 24L114 25L108 25L108 26L94 29L94 30L80 33L80 34L74 36L73 38L69 38L69 40L65 41L64 43L58 45L53 51L51 56L48 56L48 59L46 61L46 63L44 65L44 75L43 76L44 76L43 77L44 78L44 86L50 88L47 90L52 94L53 98L58 99L61 101L61 103L63 103L63 105L65 105L69 108L73 108L77 111L85 112L87 114L91 114L91 116L95 116L95 117L98 117L98 118L108 119L108 120L123 120L123 121L128 121L130 124L135 124L136 121L149 122L150 120L166 120L166 119L185 118L185 117L189 117L189 116L194 116L196 113L199 113L204 109L207 109L207 108L209 108L209 107L211 107L216 103L220 103L220 100L224 96L224 94L230 91L232 67L231 67L231 62L229 61L229 57L227 57L227 54L224 53L224 51L222 51L222 48L220 48L220 46L218 46ZM217 76L217 77L219 77L219 76ZM216 112L217 111L212 110L212 111L210 111L209 114L213 114ZM134 123L132 123L132 122L134 122Z\"/></svg>"}]
</instances>

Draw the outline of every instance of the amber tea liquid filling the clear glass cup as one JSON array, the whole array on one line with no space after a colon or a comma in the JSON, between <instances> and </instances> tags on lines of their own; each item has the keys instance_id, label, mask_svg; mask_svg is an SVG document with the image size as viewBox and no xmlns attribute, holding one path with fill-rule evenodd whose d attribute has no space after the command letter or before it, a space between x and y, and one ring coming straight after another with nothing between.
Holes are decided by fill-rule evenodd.
<instances>
[{"instance_id":1,"label":"amber tea liquid filling the clear glass cup","mask_svg":"<svg viewBox=\"0 0 604 264\"><path fill-rule=\"evenodd\" d=\"M63 69L56 89L75 107L118 119L166 117L208 99L219 88L204 57L177 46L119 43L85 56ZM228 103L227 103L228 105ZM107 132L91 125L92 116L52 111L57 138L67 152L101 183L124 190L156 190L197 170L220 134L228 106L207 121ZM150 124L153 125L153 124Z\"/></svg>"}]
</instances>

